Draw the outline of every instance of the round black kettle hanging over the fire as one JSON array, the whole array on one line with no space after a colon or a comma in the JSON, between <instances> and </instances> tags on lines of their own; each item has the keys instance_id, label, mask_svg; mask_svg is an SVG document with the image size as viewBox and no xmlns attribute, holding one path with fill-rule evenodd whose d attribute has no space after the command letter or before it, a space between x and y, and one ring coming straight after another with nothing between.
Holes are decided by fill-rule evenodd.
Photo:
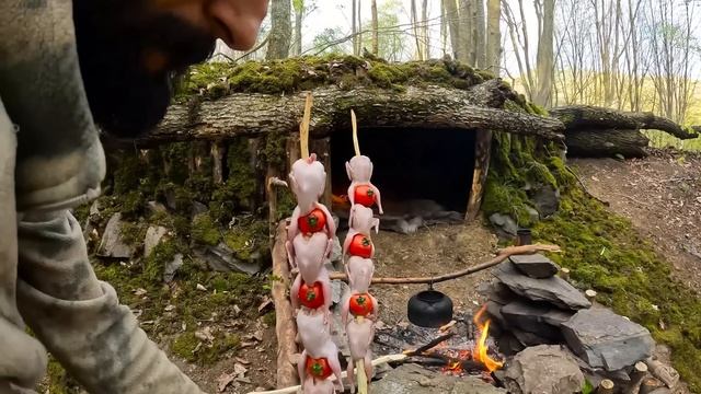
<instances>
[{"instance_id":1,"label":"round black kettle hanging over the fire","mask_svg":"<svg viewBox=\"0 0 701 394\"><path fill-rule=\"evenodd\" d=\"M438 328L452 320L452 301L433 287L412 296L406 310L409 321L421 327Z\"/></svg>"}]
</instances>

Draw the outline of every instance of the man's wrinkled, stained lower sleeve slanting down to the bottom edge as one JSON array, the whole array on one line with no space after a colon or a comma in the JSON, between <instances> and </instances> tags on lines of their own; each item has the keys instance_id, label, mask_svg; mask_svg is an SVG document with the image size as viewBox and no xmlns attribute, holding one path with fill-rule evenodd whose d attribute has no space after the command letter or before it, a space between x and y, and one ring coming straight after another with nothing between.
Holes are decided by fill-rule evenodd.
<instances>
[{"instance_id":1,"label":"man's wrinkled, stained lower sleeve slanting down to the bottom edge","mask_svg":"<svg viewBox=\"0 0 701 394\"><path fill-rule=\"evenodd\" d=\"M68 211L19 224L18 303L27 324L89 392L199 394L149 340L115 290L99 281Z\"/></svg>"}]
</instances>

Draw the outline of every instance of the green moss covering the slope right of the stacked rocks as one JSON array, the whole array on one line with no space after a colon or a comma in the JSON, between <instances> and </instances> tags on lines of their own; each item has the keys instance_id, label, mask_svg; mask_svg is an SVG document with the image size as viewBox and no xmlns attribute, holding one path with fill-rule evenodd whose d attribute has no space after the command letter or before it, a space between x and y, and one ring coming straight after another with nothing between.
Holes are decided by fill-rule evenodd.
<instances>
[{"instance_id":1,"label":"green moss covering the slope right of the stacked rocks","mask_svg":"<svg viewBox=\"0 0 701 394\"><path fill-rule=\"evenodd\" d=\"M572 270L597 300L650 329L669 345L673 361L692 391L701 391L701 300L670 277L670 265L657 255L631 223L572 187L562 209L533 228L539 242L560 245L551 257ZM660 328L664 322L666 329Z\"/></svg>"}]
</instances>

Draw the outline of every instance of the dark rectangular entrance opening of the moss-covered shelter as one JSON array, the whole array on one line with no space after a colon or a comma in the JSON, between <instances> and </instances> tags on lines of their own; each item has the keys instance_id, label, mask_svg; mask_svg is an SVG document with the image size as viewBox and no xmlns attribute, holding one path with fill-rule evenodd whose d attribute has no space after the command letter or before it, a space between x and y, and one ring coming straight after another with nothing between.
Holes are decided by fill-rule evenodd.
<instances>
[{"instance_id":1,"label":"dark rectangular entrance opening of the moss-covered shelter","mask_svg":"<svg viewBox=\"0 0 701 394\"><path fill-rule=\"evenodd\" d=\"M476 132L457 129L361 129L360 153L372 160L372 183L382 205L428 199L464 213L474 171ZM353 135L331 136L332 192L346 195L345 163L353 155ZM387 208L386 208L387 210Z\"/></svg>"}]
</instances>

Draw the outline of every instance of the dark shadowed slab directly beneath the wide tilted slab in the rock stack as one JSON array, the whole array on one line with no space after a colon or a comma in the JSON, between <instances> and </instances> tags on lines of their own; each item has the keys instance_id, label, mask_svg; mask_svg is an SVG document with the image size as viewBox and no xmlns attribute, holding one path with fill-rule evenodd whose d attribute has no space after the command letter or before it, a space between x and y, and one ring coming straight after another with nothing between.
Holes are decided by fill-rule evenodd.
<instances>
[{"instance_id":1,"label":"dark shadowed slab directly beneath the wide tilted slab in the rock stack","mask_svg":"<svg viewBox=\"0 0 701 394\"><path fill-rule=\"evenodd\" d=\"M560 338L560 325L574 314L549 304L526 301L514 301L504 305L501 312L509 325L548 338Z\"/></svg>"}]
</instances>

